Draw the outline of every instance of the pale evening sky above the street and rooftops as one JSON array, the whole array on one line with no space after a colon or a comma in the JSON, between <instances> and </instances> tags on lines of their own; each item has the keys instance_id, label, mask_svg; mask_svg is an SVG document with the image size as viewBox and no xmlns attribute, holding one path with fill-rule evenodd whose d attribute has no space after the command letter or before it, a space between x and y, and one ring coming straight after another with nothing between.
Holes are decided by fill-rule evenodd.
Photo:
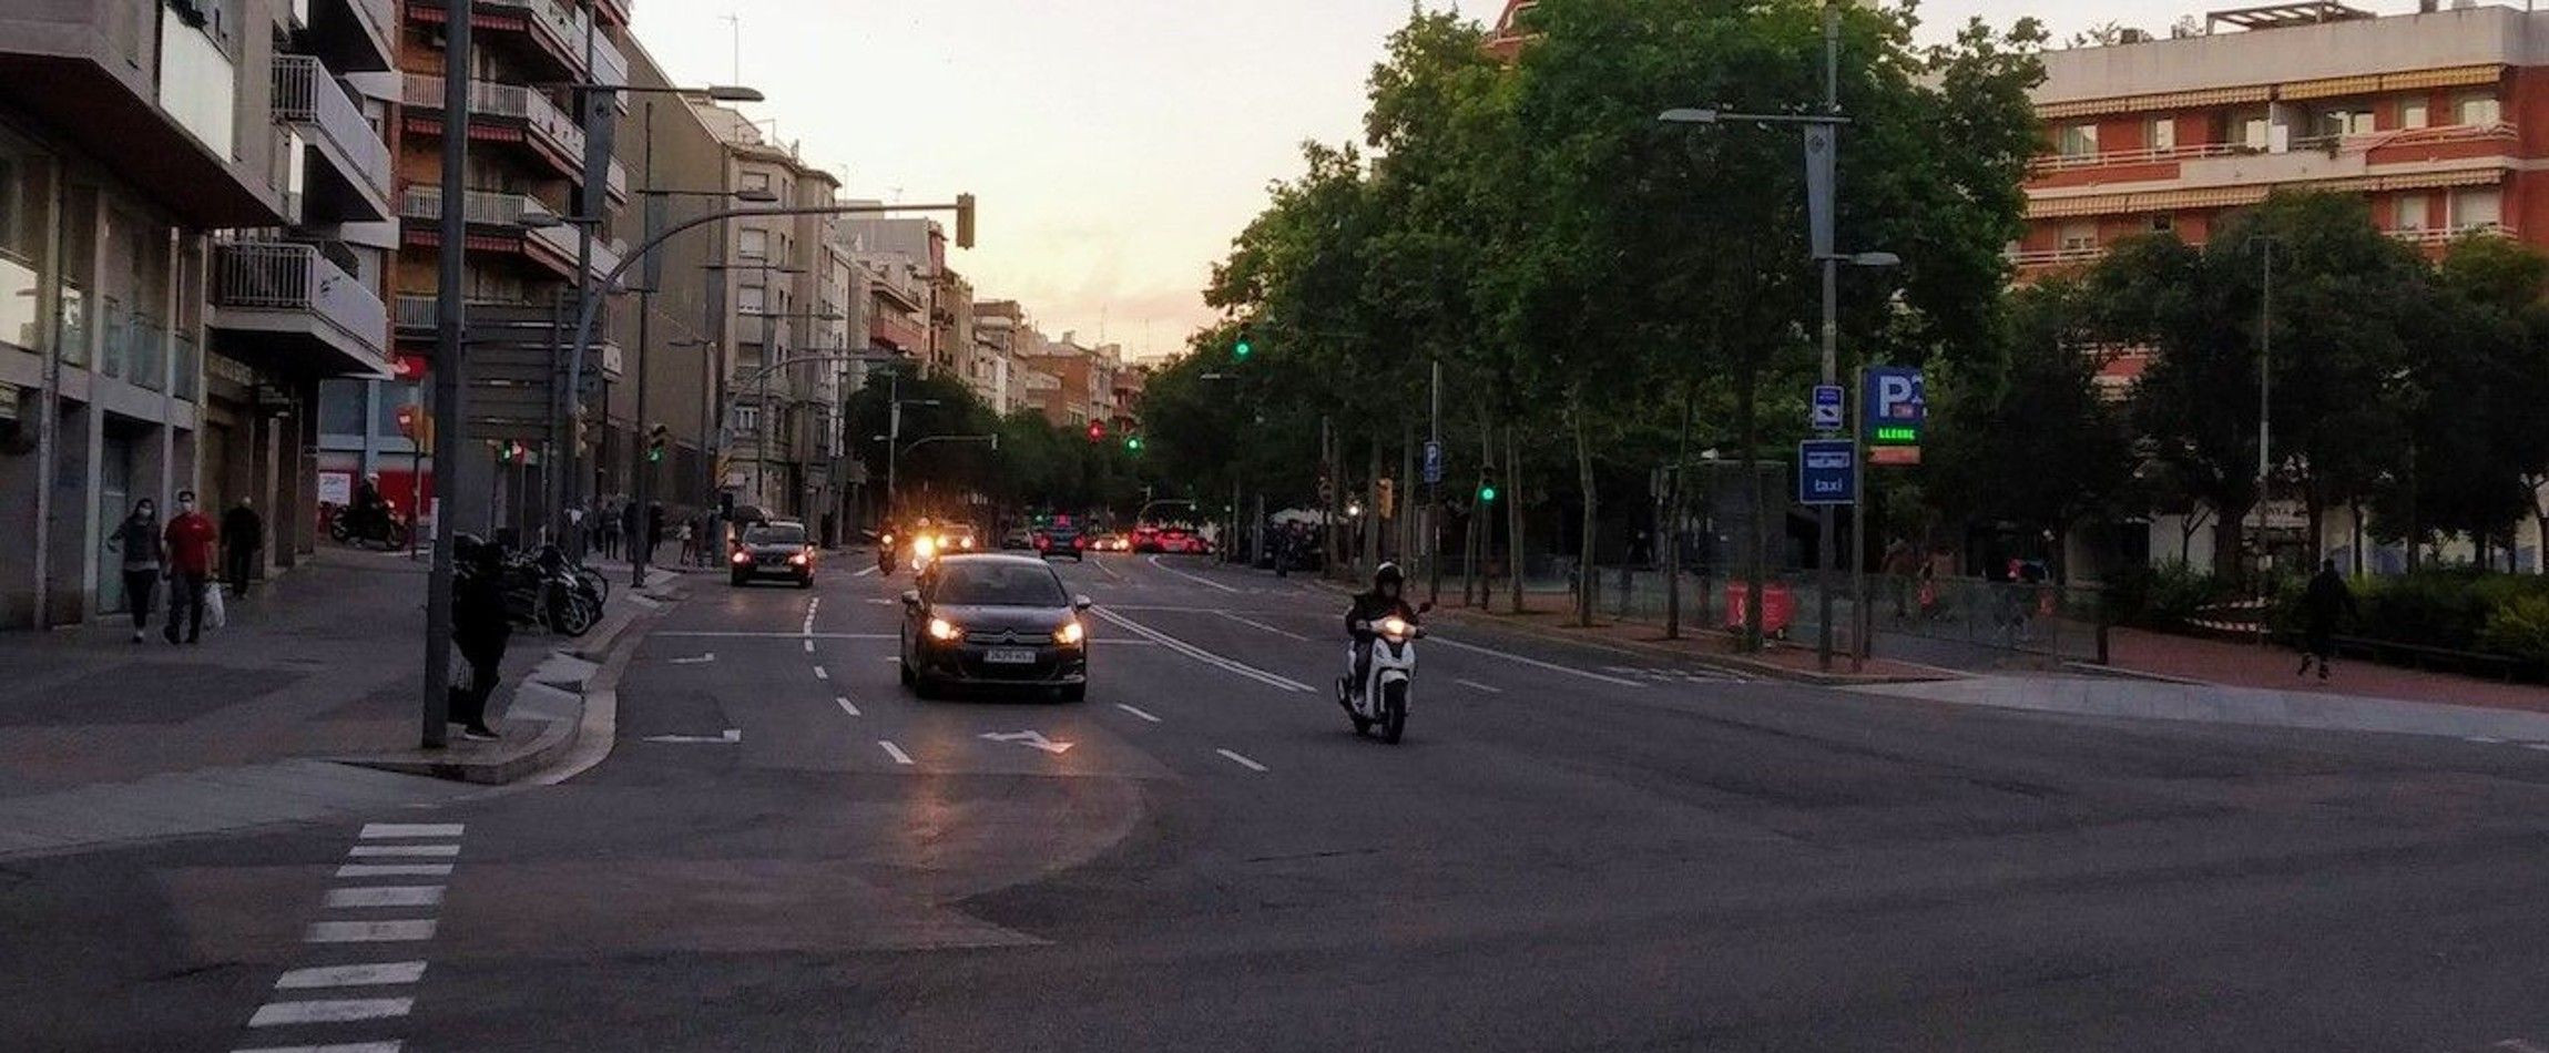
<instances>
[{"instance_id":1,"label":"pale evening sky above the street and rooftops","mask_svg":"<svg viewBox=\"0 0 2549 1053\"><path fill-rule=\"evenodd\" d=\"M1170 354L1303 140L1359 140L1364 76L1410 0L637 0L681 84L747 84L844 194L981 201L951 265L1053 337ZM1455 3L1489 20L1501 0ZM2401 0L2404 3L2404 0ZM2057 36L2167 28L2167 0L1924 0L1924 36L2034 13ZM729 23L729 18L734 18ZM742 64L737 69L737 54Z\"/></svg>"}]
</instances>

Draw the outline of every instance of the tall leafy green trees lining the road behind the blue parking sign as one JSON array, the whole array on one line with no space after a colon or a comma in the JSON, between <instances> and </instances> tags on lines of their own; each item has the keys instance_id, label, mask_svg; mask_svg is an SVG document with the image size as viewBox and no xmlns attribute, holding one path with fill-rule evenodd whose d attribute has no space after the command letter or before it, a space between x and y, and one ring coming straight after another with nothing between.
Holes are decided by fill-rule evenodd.
<instances>
[{"instance_id":1,"label":"tall leafy green trees lining the road behind the blue parking sign","mask_svg":"<svg viewBox=\"0 0 2549 1053\"><path fill-rule=\"evenodd\" d=\"M1907 260L1845 280L1840 342L1871 362L1996 347L2042 31L1970 23L1924 48L1909 10L1835 8L1840 242ZM1308 143L1213 270L1229 321L1147 395L1162 454L1295 495L1315 474L1404 479L1440 365L1458 474L1514 497L1509 551L1527 551L1522 505L1557 497L1585 563L1621 479L1703 449L1784 459L1820 293L1797 135L1657 115L1820 107L1823 5L1542 0L1529 18L1517 61L1455 13L1389 38L1361 143ZM1756 576L1769 530L1756 512Z\"/></svg>"}]
</instances>

